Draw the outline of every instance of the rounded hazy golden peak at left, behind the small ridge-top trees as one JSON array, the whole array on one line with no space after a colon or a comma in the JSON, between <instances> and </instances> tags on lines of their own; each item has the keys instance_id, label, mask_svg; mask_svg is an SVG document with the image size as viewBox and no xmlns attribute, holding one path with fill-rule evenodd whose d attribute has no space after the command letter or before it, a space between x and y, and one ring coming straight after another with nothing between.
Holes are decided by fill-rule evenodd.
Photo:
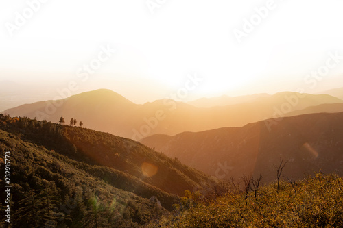
<instances>
[{"instance_id":1,"label":"rounded hazy golden peak at left, behind the small ridge-top trees","mask_svg":"<svg viewBox=\"0 0 343 228\"><path fill-rule=\"evenodd\" d=\"M21 105L5 114L10 116L36 117L58 123L64 116L66 123L71 118L82 121L91 129L108 132L123 132L130 126L130 114L139 107L112 90L94 90L71 96L58 101L43 101Z\"/></svg>"}]
</instances>

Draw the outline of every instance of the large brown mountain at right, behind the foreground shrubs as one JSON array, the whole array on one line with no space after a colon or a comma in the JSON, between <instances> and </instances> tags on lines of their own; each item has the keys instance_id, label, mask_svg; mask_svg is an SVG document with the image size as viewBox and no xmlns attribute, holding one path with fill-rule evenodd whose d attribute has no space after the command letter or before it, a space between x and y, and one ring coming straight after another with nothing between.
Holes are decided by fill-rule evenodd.
<instances>
[{"instance_id":1,"label":"large brown mountain at right, behind the foreground shrubs","mask_svg":"<svg viewBox=\"0 0 343 228\"><path fill-rule=\"evenodd\" d=\"M148 147L220 179L250 173L275 179L274 165L287 161L285 177L343 175L343 112L307 114L176 136L157 134L141 140Z\"/></svg>"}]
</instances>

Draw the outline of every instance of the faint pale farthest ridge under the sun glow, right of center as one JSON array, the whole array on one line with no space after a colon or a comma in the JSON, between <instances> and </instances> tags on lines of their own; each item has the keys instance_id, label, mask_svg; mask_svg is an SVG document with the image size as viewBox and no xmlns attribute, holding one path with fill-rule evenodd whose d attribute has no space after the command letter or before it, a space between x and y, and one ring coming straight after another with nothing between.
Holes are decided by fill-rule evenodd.
<instances>
[{"instance_id":1,"label":"faint pale farthest ridge under the sun glow, right of center","mask_svg":"<svg viewBox=\"0 0 343 228\"><path fill-rule=\"evenodd\" d=\"M259 97L270 97L270 94L261 93L261 94L252 94L239 97L228 97L223 95L221 97L212 97L212 98L200 98L194 101L187 102L189 105L195 107L215 107L215 106L226 106L226 105L236 105L238 103L246 103L253 101Z\"/></svg>"}]
</instances>

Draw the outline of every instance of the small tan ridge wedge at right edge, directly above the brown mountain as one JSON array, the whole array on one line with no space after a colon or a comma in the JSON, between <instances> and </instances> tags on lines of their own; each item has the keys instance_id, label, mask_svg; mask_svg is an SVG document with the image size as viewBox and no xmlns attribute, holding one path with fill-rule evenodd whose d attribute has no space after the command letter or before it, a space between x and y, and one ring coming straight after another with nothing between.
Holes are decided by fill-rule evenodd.
<instances>
[{"instance_id":1,"label":"small tan ridge wedge at right edge, directly above the brown mountain","mask_svg":"<svg viewBox=\"0 0 343 228\"><path fill-rule=\"evenodd\" d=\"M311 113L333 113L333 112L343 112L343 103L326 103L322 105L310 106L306 107L303 110L297 110L294 112L289 112L285 114L285 116L298 116L303 114L311 114Z\"/></svg>"}]
</instances>

